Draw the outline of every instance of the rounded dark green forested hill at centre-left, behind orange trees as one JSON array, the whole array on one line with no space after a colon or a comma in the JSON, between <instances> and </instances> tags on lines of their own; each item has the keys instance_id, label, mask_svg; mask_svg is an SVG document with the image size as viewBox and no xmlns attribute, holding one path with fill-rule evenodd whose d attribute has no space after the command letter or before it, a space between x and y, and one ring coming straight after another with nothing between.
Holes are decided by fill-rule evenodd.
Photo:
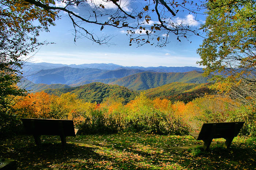
<instances>
[{"instance_id":1,"label":"rounded dark green forested hill at centre-left, behind orange trees","mask_svg":"<svg viewBox=\"0 0 256 170\"><path fill-rule=\"evenodd\" d=\"M101 103L106 98L124 98L124 103L127 103L138 95L136 92L128 88L108 85L104 83L90 83L79 87L59 88L59 89L46 89L46 93L61 95L63 93L71 92L83 99L84 102Z\"/></svg>"}]
</instances>

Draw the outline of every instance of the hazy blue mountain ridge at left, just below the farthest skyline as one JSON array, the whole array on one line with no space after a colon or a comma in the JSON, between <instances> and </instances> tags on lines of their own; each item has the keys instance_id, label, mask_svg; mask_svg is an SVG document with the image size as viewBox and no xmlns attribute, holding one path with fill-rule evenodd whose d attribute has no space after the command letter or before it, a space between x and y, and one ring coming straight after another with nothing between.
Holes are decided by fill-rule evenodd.
<instances>
[{"instance_id":1,"label":"hazy blue mountain ridge at left, just below the farthest skyline","mask_svg":"<svg viewBox=\"0 0 256 170\"><path fill-rule=\"evenodd\" d=\"M52 69L43 69L34 72L23 73L24 77L33 83L44 84L76 84L84 82L85 80L97 79L116 79L123 78L134 73L143 72L138 69L116 69L104 70L97 68L72 68L72 67L59 67ZM87 83L85 83L87 84ZM82 84L79 84L82 85ZM76 85L77 86L77 85Z\"/></svg>"}]
</instances>

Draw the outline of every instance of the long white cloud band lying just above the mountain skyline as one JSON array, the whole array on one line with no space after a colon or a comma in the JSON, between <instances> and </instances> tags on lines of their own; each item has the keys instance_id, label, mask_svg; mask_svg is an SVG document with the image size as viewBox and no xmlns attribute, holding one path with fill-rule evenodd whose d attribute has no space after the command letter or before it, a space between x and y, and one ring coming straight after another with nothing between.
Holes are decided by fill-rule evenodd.
<instances>
[{"instance_id":1,"label":"long white cloud band lying just above the mountain skyline","mask_svg":"<svg viewBox=\"0 0 256 170\"><path fill-rule=\"evenodd\" d=\"M185 57L179 55L163 55L163 53L107 53L105 52L41 52L35 54L35 63L61 63L61 64L86 64L86 63L114 63L123 66L167 67L195 66L200 57ZM31 60L30 60L31 61Z\"/></svg>"}]
</instances>

